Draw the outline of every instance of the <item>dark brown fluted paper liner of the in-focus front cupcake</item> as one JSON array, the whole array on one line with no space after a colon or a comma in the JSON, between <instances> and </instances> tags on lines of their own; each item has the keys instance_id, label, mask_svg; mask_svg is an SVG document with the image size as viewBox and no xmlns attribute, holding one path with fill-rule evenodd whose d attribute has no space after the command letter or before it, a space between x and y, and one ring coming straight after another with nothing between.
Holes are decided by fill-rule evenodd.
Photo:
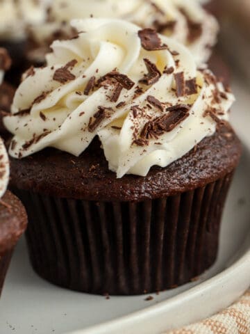
<instances>
[{"instance_id":1,"label":"dark brown fluted paper liner of the in-focus front cupcake","mask_svg":"<svg viewBox=\"0 0 250 334\"><path fill-rule=\"evenodd\" d=\"M51 283L94 294L144 294L187 283L216 260L232 177L142 202L19 191L33 269Z\"/></svg>"}]
</instances>

